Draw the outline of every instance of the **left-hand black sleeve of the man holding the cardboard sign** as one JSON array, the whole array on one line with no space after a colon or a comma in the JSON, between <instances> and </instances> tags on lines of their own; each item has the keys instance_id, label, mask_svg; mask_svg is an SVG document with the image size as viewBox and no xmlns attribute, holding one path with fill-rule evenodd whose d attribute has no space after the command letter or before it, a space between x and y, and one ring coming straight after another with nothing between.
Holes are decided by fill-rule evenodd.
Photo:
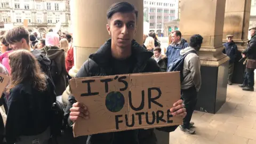
<instances>
[{"instance_id":1,"label":"left-hand black sleeve of the man holding the cardboard sign","mask_svg":"<svg viewBox=\"0 0 256 144\"><path fill-rule=\"evenodd\" d=\"M76 74L76 78L78 77L88 77L89 75L89 60L85 61L83 66L81 67L81 69L78 71L78 73ZM70 108L72 108L73 104L76 103L76 99L75 97L70 93L69 97L68 97L68 105L66 107L65 110L65 114L64 116L68 119L68 124L69 126L73 125L73 122L70 121L69 119L69 113L70 113Z\"/></svg>"}]
</instances>

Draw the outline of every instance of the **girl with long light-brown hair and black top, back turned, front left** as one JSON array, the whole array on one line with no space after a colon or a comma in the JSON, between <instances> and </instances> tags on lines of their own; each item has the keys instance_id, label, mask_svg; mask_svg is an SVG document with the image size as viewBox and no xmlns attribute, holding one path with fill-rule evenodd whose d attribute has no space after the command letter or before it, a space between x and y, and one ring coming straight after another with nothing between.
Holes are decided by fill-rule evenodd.
<instances>
[{"instance_id":1,"label":"girl with long light-brown hair and black top, back turned, front left","mask_svg":"<svg viewBox=\"0 0 256 144\"><path fill-rule=\"evenodd\" d=\"M50 139L54 85L42 73L37 60L27 50L9 55L11 82L6 121L7 143L47 143ZM35 142L35 140L37 140Z\"/></svg>"}]
</instances>

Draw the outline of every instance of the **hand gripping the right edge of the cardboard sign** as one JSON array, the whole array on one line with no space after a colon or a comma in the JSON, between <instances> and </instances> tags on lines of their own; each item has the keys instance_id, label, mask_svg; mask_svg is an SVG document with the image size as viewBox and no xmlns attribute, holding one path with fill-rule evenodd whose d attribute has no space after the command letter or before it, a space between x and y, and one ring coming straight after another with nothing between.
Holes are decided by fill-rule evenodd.
<instances>
[{"instance_id":1,"label":"hand gripping the right edge of the cardboard sign","mask_svg":"<svg viewBox=\"0 0 256 144\"><path fill-rule=\"evenodd\" d=\"M186 108L184 108L183 105L183 100L178 100L175 102L170 111L173 116L180 116L184 118L187 115Z\"/></svg>"}]
</instances>

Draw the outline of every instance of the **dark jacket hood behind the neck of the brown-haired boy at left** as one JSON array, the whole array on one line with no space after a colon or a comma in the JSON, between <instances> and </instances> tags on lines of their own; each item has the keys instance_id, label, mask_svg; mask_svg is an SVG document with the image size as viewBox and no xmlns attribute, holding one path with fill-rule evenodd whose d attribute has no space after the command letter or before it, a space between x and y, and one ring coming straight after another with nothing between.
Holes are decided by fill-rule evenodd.
<instances>
[{"instance_id":1,"label":"dark jacket hood behind the neck of the brown-haired boy at left","mask_svg":"<svg viewBox=\"0 0 256 144\"><path fill-rule=\"evenodd\" d=\"M57 46L44 46L42 49L40 49L40 51L44 53L50 60L59 57L61 54L63 54L63 52L65 52L63 49L60 49Z\"/></svg>"}]
</instances>

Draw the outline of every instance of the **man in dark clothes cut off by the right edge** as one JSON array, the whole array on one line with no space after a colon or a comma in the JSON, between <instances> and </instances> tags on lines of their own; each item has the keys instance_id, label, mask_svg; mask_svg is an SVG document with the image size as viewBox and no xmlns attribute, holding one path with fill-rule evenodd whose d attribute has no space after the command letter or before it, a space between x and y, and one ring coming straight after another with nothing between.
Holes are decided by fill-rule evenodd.
<instances>
[{"instance_id":1,"label":"man in dark clothes cut off by the right edge","mask_svg":"<svg viewBox=\"0 0 256 144\"><path fill-rule=\"evenodd\" d=\"M239 85L244 91L254 91L254 69L256 68L256 27L249 29L251 40L247 49L242 51L242 57L246 58L246 74L243 84Z\"/></svg>"}]
</instances>

